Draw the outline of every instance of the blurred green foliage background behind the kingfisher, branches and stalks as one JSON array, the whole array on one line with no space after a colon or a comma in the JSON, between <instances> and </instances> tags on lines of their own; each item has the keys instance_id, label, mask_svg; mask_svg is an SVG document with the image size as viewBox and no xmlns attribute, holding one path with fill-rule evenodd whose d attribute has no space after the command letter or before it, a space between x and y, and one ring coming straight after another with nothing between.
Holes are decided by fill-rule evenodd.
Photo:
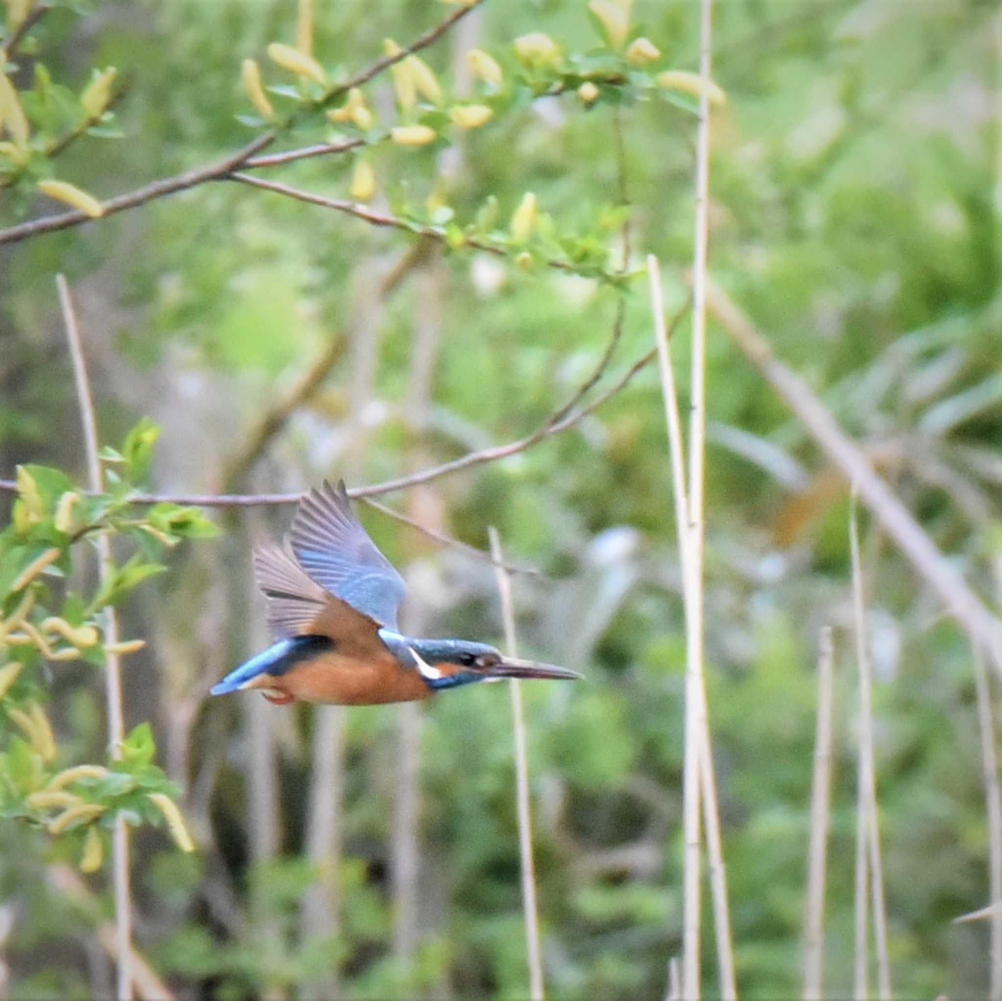
<instances>
[{"instance_id":1,"label":"blurred green foliage background behind the kingfisher, branches and stalks","mask_svg":"<svg viewBox=\"0 0 1002 1001\"><path fill-rule=\"evenodd\" d=\"M997 605L997 11L981 0L715 6L713 75L727 104L713 112L714 279ZM378 58L385 37L404 44L442 14L439 5L417 0L316 0L315 8L314 55L331 81ZM488 0L471 15L467 34L460 38L457 29L422 52L450 95L465 86L463 53L473 46L498 60L505 81L496 93L470 84L494 117L461 141L444 130L423 149L381 140L366 154L378 184L373 204L408 224L438 226L453 244L429 266L444 291L433 295L420 276L411 278L372 322L379 360L370 403L378 406L367 412L369 423L353 416L364 355L356 345L271 442L244 487L295 490L345 469L354 480L375 482L534 430L608 343L620 295L611 286L621 283L611 279L620 266L624 194L631 265L657 254L672 305L682 302L695 119L690 102L679 106L684 96L672 103L647 81L665 69L695 68L696 5L635 0L634 33L662 53L642 71L644 80L610 50L585 8L583 0ZM530 32L554 39L561 61L521 62L513 42ZM267 46L292 42L295 33L293 0L118 0L82 14L59 6L32 32L36 47L25 49L11 79L35 95L25 110L44 145L80 126L73 95L92 67L118 68L128 86L113 112L126 138L81 135L57 160L60 178L107 198L215 161L258 134L259 124L237 120L249 106L240 61L259 59L267 81L278 80L282 71L266 67ZM57 82L34 68L38 59ZM574 92L585 70L626 73L628 81L603 80L599 98L586 104ZM271 96L287 115L304 94L308 102L322 96L313 86ZM563 87L560 96L536 96ZM48 132L39 110L46 88L53 106L68 109ZM365 92L385 132L396 120L389 77ZM417 107L412 117L444 125L442 108ZM340 137L358 131L336 127ZM276 148L332 134L331 123L308 108ZM454 140L459 151L450 160ZM31 170L44 160L39 146ZM347 198L353 169L352 156L318 156L270 168L267 176ZM43 210L27 186L35 174L14 176L13 190L0 192L3 225ZM509 221L527 191L543 220L526 247L533 268L511 260L522 247ZM470 234L503 256L456 245ZM17 464L77 474L82 465L54 272L66 272L85 292L82 326L106 437L121 439L148 415L161 429L151 481L164 491L208 492L224 485L230 458L262 412L333 339L352 336L374 284L365 268L397 260L416 238L219 181L0 247L0 475L12 475ZM585 276L608 281L544 267L548 258L578 254ZM625 285L626 322L606 381L651 342L642 284ZM409 394L418 331L428 323L441 333L427 421L415 428ZM684 329L675 341L684 408ZM806 431L712 327L707 385L709 712L738 981L749 998L800 989L814 664L819 627L831 622L839 663L826 971L832 995L846 995L856 726L845 490ZM142 475L151 434L152 424L143 424L118 453L105 453L123 484L118 494L109 487L109 498L124 500ZM26 468L48 491L47 512L71 489L61 474ZM524 688L549 991L661 996L667 961L680 952L684 644L655 374L639 375L575 430L439 480L432 492L432 509L449 532L482 546L485 526L495 524L511 558L548 574L516 578L522 645L589 678L572 691ZM87 517L119 518L125 510ZM53 516L39 523L49 534L32 536L36 549L0 564L8 584L37 547L65 546L53 534ZM168 535L197 535L203 524L185 523L188 516L173 508L154 507L145 517ZM497 639L489 567L432 552L408 530L365 517L387 554L421 582L414 599L429 633ZM127 633L150 639L126 673L127 717L152 722L166 776L187 793L185 814L199 845L196 857L182 858L162 839L136 839L138 947L179 995L292 996L337 964L349 997L447 990L524 997L502 686L445 695L423 712L422 940L410 960L392 947L396 710L346 716L337 937L302 935L298 917L304 894L323 875L306 855L316 726L308 710L269 716L281 785L271 818L277 847L269 858L253 858L250 828L260 819L249 816L250 750L266 735L256 733L239 699L203 705L202 693L261 645L261 608L247 604L246 551L252 535L278 535L286 521L281 513L249 529L246 521L227 521L223 538L180 552L170 573L138 592L154 596L123 606ZM142 553L131 579L122 580L130 585L156 559L156 538L138 526L126 534ZM897 554L876 532L866 534L895 987L902 997L985 996L987 928L950 923L988 897L970 651ZM68 569L62 555L53 566ZM96 610L103 598L87 593ZM63 606L59 614L78 624L86 607ZM43 686L37 666L30 682L17 683L30 683L32 698L51 700L67 756L99 756L97 679L56 668ZM15 744L15 758L22 745ZM84 943L93 916L44 882L61 850L13 825L5 826L5 839L8 831L0 899L16 918L6 951L11 996L92 990ZM78 851L65 857L76 861ZM106 896L101 900L107 911Z\"/></svg>"}]
</instances>

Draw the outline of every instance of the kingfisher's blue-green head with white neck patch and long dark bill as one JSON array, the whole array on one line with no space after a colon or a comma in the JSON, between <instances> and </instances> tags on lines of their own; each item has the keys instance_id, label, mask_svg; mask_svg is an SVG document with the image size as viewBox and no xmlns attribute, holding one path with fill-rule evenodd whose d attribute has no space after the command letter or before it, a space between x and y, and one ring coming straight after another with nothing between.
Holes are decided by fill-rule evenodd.
<instances>
[{"instance_id":1,"label":"kingfisher's blue-green head with white neck patch and long dark bill","mask_svg":"<svg viewBox=\"0 0 1002 1001\"><path fill-rule=\"evenodd\" d=\"M580 678L577 671L535 660L507 657L487 643L467 639L415 639L380 629L380 637L405 666L416 668L433 688L504 677Z\"/></svg>"}]
</instances>

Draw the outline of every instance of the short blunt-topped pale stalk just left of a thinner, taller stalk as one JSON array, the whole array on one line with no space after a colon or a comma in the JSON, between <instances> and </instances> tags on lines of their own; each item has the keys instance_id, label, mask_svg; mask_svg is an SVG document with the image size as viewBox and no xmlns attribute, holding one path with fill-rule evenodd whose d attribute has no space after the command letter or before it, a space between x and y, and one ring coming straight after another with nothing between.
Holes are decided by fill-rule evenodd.
<instances>
[{"instance_id":1,"label":"short blunt-topped pale stalk just left of a thinner, taller stalk","mask_svg":"<svg viewBox=\"0 0 1002 1001\"><path fill-rule=\"evenodd\" d=\"M811 847L808 852L808 913L804 950L804 1001L821 1001L825 945L825 870L832 785L832 627L818 641L818 729L811 790Z\"/></svg>"}]
</instances>

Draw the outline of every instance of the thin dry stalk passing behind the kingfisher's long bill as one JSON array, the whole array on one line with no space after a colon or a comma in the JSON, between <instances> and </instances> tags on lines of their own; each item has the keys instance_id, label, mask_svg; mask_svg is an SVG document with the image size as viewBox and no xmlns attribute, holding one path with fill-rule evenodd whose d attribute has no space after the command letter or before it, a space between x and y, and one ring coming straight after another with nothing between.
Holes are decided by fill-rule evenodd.
<instances>
[{"instance_id":1,"label":"thin dry stalk passing behind the kingfisher's long bill","mask_svg":"<svg viewBox=\"0 0 1002 1001\"><path fill-rule=\"evenodd\" d=\"M515 636L515 609L511 598L511 579L501 567L503 554L497 529L487 529L491 555L496 564L501 616L504 619L504 642L508 656L518 656ZM539 946L539 915L536 909L536 874L532 863L532 813L529 804L529 762L525 750L525 718L522 712L522 688L517 678L509 682L511 714L515 735L515 799L518 804L518 850L522 864L522 909L525 914L525 940L529 961L529 996L543 1001L543 960Z\"/></svg>"}]
</instances>

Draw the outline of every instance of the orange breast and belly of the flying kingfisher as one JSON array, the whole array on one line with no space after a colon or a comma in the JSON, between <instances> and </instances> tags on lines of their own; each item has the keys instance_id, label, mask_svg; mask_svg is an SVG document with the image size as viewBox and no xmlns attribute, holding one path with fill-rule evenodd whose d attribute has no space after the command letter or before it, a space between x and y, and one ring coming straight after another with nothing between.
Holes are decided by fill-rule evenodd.
<instances>
[{"instance_id":1,"label":"orange breast and belly of the flying kingfisher","mask_svg":"<svg viewBox=\"0 0 1002 1001\"><path fill-rule=\"evenodd\" d=\"M416 670L401 667L389 652L366 659L334 651L297 664L267 687L308 702L377 705L427 698L431 689Z\"/></svg>"}]
</instances>

